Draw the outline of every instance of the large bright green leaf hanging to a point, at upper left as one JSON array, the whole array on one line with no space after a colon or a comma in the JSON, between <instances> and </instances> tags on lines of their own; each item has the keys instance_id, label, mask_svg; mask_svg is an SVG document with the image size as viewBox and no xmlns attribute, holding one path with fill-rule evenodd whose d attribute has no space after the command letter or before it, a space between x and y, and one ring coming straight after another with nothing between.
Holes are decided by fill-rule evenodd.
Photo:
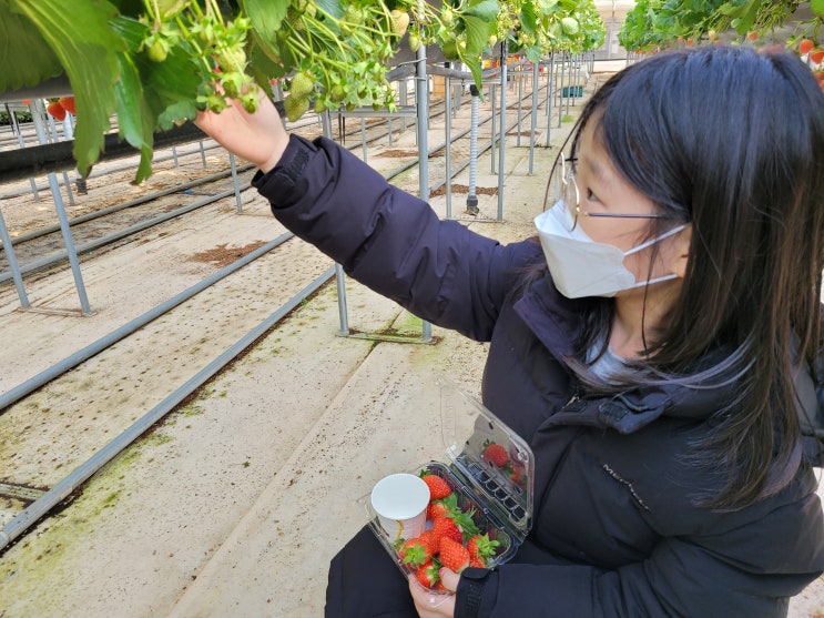
<instances>
[{"instance_id":1,"label":"large bright green leaf hanging to a point, at upper left","mask_svg":"<svg viewBox=\"0 0 824 618\"><path fill-rule=\"evenodd\" d=\"M28 18L65 69L78 107L73 154L85 174L100 156L116 108L116 53L125 49L109 27L116 9L103 0L9 0L9 8Z\"/></svg>"}]
</instances>

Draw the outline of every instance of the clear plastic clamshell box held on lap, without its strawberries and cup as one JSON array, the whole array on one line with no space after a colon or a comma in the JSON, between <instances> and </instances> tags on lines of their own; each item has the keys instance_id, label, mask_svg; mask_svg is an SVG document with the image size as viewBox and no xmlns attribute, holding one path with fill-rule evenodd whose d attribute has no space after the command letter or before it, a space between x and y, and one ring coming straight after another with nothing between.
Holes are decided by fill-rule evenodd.
<instances>
[{"instance_id":1,"label":"clear plastic clamshell box held on lap, without its strawberries and cup","mask_svg":"<svg viewBox=\"0 0 824 618\"><path fill-rule=\"evenodd\" d=\"M447 482L460 509L471 511L480 533L487 533L490 540L498 541L495 555L486 561L486 567L491 568L509 560L529 533L535 458L526 442L482 404L447 377L438 377L437 382L447 460L427 462L405 472L420 474L428 470ZM487 452L492 443L506 452L507 460L502 466L497 465L502 459L496 464ZM369 495L358 502L366 509L372 530L395 564L406 577L413 576L414 570L404 564L396 549L396 539L382 528ZM411 579L418 584L415 577ZM435 589L427 591L436 596L446 595ZM437 604L437 599L433 602Z\"/></svg>"}]
</instances>

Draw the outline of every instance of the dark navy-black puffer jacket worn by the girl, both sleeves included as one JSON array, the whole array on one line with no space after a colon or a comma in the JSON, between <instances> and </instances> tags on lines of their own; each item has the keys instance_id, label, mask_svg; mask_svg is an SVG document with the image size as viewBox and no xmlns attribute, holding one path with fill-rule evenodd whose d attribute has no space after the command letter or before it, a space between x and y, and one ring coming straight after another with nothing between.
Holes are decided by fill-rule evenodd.
<instances>
[{"instance_id":1,"label":"dark navy-black puffer jacket worn by the girl, both sleeves included","mask_svg":"<svg viewBox=\"0 0 824 618\"><path fill-rule=\"evenodd\" d=\"M695 495L718 480L685 463L688 445L711 430L708 418L730 393L574 396L559 358L587 301L564 298L548 276L516 293L517 272L543 259L537 244L501 246L441 222L326 140L293 136L283 163L253 182L279 221L353 277L434 324L491 342L484 403L535 453L529 541L546 560L484 574L471 614L783 616L787 598L824 570L811 468L822 464L821 445L808 424L805 465L783 492L735 513L698 508Z\"/></svg>"}]
</instances>

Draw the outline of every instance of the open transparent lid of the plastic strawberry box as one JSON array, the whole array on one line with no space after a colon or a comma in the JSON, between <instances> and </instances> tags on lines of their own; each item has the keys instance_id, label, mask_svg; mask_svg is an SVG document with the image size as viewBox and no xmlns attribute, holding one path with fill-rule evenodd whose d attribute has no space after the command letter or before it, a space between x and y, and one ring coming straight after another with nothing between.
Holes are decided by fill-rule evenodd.
<instances>
[{"instance_id":1,"label":"open transparent lid of the plastic strawberry box","mask_svg":"<svg viewBox=\"0 0 824 618\"><path fill-rule=\"evenodd\" d=\"M484 497L522 540L532 518L535 456L529 445L486 406L438 376L444 442L454 470Z\"/></svg>"}]
</instances>

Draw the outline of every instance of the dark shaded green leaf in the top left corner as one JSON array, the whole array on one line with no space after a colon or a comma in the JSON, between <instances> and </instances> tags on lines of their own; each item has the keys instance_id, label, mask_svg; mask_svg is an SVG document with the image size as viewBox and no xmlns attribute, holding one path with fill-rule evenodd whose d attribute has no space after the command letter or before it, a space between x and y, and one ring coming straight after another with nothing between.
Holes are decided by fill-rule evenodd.
<instances>
[{"instance_id":1,"label":"dark shaded green leaf in the top left corner","mask_svg":"<svg viewBox=\"0 0 824 618\"><path fill-rule=\"evenodd\" d=\"M23 16L0 0L0 92L37 85L63 72L58 57Z\"/></svg>"}]
</instances>

